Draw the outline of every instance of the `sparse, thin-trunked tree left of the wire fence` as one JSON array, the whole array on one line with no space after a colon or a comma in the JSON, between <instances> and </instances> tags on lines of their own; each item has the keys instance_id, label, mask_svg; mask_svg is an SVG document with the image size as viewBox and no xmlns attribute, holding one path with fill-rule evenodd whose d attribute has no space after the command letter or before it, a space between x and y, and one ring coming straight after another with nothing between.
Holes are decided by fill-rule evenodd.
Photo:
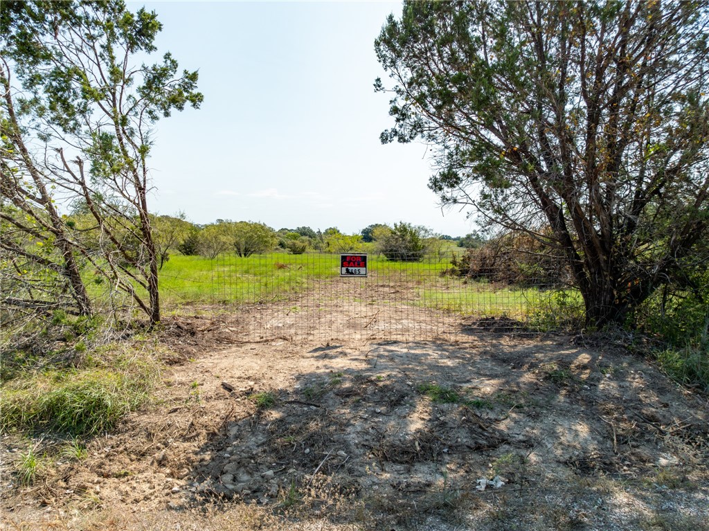
<instances>
[{"instance_id":1,"label":"sparse, thin-trunked tree left of the wire fence","mask_svg":"<svg viewBox=\"0 0 709 531\"><path fill-rule=\"evenodd\" d=\"M169 53L135 65L156 50L162 26L155 13L132 13L123 1L4 1L1 8L4 155L13 155L4 157L4 194L55 237L76 297L72 256L79 254L157 323L158 252L147 208L152 125L187 104L199 107L197 73L179 75ZM69 237L49 206L77 197L101 233L101 259Z\"/></svg>"}]
</instances>

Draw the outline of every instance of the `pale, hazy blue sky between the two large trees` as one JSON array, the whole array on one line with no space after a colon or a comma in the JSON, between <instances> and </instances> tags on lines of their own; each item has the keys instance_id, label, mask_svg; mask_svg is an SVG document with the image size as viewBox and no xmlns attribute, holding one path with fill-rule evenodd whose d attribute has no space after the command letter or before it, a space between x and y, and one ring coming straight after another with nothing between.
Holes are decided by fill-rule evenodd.
<instances>
[{"instance_id":1,"label":"pale, hazy blue sky between the two large trees","mask_svg":"<svg viewBox=\"0 0 709 531\"><path fill-rule=\"evenodd\" d=\"M157 13L158 54L199 69L204 103L157 124L152 210L195 223L357 233L404 220L438 233L474 229L441 211L422 143L381 145L393 123L374 39L401 4L129 1Z\"/></svg>"}]
</instances>

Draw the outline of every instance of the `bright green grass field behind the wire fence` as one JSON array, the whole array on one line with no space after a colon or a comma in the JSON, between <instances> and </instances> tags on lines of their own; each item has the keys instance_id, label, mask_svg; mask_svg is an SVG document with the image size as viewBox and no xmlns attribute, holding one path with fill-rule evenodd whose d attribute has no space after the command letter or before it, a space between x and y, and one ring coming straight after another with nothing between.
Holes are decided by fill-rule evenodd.
<instances>
[{"instance_id":1,"label":"bright green grass field behind the wire fence","mask_svg":"<svg viewBox=\"0 0 709 531\"><path fill-rule=\"evenodd\" d=\"M369 255L368 286L401 287L406 294L391 296L391 303L411 303L426 308L519 320L549 321L576 313L581 298L575 291L537 287L500 286L443 274L453 252L427 257L422 262L391 262ZM340 293L339 255L320 253L290 255L271 253L240 258L221 255L216 259L174 256L160 272L160 291L165 308L184 304L248 304L286 300L312 288L316 281L332 280L323 296ZM342 279L344 283L354 279ZM361 280L354 280L359 281ZM397 292L398 293L398 292Z\"/></svg>"}]
</instances>

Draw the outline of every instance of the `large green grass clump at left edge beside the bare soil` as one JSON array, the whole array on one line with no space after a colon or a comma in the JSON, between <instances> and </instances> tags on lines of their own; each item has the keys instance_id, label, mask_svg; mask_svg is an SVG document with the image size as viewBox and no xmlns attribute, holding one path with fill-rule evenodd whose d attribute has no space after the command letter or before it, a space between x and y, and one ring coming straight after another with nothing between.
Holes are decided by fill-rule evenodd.
<instances>
[{"instance_id":1,"label":"large green grass clump at left edge beside the bare soil","mask_svg":"<svg viewBox=\"0 0 709 531\"><path fill-rule=\"evenodd\" d=\"M0 432L96 435L147 399L155 362L109 355L90 359L79 369L47 369L7 381L0 389Z\"/></svg>"}]
</instances>

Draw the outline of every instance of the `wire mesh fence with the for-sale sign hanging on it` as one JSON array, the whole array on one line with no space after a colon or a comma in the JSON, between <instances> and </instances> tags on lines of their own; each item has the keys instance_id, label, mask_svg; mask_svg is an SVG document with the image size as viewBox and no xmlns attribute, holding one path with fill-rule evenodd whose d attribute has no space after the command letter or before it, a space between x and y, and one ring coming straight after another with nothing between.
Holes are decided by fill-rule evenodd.
<instances>
[{"instance_id":1,"label":"wire mesh fence with the for-sale sign hanging on it","mask_svg":"<svg viewBox=\"0 0 709 531\"><path fill-rule=\"evenodd\" d=\"M220 255L162 285L172 282L178 301L207 299L235 316L230 326L244 341L455 340L476 330L560 328L579 311L573 289L473 279L454 267L459 254L368 255L366 276L341 276L354 268L342 267L339 254Z\"/></svg>"}]
</instances>

